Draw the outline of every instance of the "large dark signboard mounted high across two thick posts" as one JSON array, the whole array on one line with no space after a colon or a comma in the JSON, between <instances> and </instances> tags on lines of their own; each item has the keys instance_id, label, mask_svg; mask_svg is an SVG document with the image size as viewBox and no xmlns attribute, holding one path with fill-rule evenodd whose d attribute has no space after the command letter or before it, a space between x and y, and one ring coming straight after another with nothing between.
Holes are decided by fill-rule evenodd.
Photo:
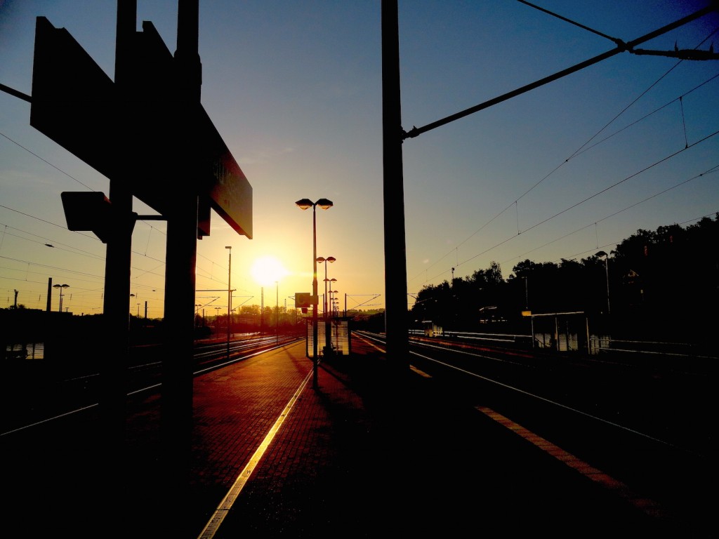
<instances>
[{"instance_id":1,"label":"large dark signboard mounted high across two thick posts","mask_svg":"<svg viewBox=\"0 0 719 539\"><path fill-rule=\"evenodd\" d=\"M252 186L200 103L180 98L173 55L155 27L136 32L117 86L64 28L37 17L30 125L166 216L195 190L198 237L210 208L252 238Z\"/></svg>"}]
</instances>

